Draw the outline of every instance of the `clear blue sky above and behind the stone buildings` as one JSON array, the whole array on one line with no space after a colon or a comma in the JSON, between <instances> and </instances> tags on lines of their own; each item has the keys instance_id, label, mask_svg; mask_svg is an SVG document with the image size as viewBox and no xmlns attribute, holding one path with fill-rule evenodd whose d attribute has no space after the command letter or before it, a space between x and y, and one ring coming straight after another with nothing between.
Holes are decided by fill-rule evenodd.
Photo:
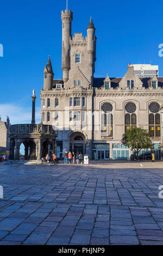
<instances>
[{"instance_id":1,"label":"clear blue sky above and behind the stone buildings","mask_svg":"<svg viewBox=\"0 0 163 256\"><path fill-rule=\"evenodd\" d=\"M40 121L40 90L43 69L51 54L54 79L61 71L61 10L66 0L1 1L0 114L12 124L31 120L32 90L36 92L36 117ZM92 16L96 27L95 77L121 77L133 62L159 65L163 76L162 1L68 0L73 11L72 35L82 32Z\"/></svg>"}]
</instances>

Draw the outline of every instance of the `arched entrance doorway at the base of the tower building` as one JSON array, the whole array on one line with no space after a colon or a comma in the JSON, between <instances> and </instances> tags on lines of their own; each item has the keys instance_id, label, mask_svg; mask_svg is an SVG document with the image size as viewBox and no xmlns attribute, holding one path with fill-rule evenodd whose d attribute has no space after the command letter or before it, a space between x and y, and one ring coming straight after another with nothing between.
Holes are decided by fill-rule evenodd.
<instances>
[{"instance_id":1,"label":"arched entrance doorway at the base of the tower building","mask_svg":"<svg viewBox=\"0 0 163 256\"><path fill-rule=\"evenodd\" d=\"M70 136L70 151L85 154L85 136L81 132L74 132Z\"/></svg>"}]
</instances>

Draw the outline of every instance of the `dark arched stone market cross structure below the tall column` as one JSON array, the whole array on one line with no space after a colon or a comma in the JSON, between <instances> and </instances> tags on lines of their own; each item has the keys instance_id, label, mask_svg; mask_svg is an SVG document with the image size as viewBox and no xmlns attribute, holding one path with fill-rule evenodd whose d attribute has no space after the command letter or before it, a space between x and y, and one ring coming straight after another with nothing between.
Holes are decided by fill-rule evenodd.
<instances>
[{"instance_id":1,"label":"dark arched stone market cross structure below the tall column","mask_svg":"<svg viewBox=\"0 0 163 256\"><path fill-rule=\"evenodd\" d=\"M10 160L19 160L20 146L24 144L24 160L40 160L48 153L55 152L55 131L52 125L18 124L10 127ZM37 154L36 154L37 147Z\"/></svg>"}]
</instances>

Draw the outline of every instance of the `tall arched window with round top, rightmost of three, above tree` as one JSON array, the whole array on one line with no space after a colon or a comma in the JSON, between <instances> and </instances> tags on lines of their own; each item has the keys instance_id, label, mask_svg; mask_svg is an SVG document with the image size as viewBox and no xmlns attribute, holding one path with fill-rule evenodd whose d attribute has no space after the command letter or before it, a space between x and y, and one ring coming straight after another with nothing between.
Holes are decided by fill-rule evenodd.
<instances>
[{"instance_id":1,"label":"tall arched window with round top, rightmost of three, above tree","mask_svg":"<svg viewBox=\"0 0 163 256\"><path fill-rule=\"evenodd\" d=\"M160 105L157 102L149 104L149 135L150 137L160 137ZM152 113L150 113L152 112Z\"/></svg>"}]
</instances>

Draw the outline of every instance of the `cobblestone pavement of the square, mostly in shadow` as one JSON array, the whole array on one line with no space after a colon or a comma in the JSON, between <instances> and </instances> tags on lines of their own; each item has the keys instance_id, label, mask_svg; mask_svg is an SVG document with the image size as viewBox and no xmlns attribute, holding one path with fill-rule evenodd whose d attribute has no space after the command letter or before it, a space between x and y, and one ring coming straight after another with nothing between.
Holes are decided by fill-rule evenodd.
<instances>
[{"instance_id":1,"label":"cobblestone pavement of the square, mostly in shadow","mask_svg":"<svg viewBox=\"0 0 163 256\"><path fill-rule=\"evenodd\" d=\"M135 164L0 164L0 245L163 245L163 163Z\"/></svg>"}]
</instances>

